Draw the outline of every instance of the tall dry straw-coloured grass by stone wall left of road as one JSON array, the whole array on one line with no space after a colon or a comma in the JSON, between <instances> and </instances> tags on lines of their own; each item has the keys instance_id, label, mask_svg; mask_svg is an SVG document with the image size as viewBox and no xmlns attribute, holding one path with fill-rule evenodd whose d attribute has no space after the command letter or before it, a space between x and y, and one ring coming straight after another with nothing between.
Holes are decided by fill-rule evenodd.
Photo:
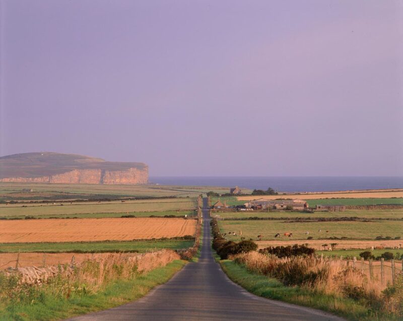
<instances>
[{"instance_id":1,"label":"tall dry straw-coloured grass by stone wall left of road","mask_svg":"<svg viewBox=\"0 0 403 321\"><path fill-rule=\"evenodd\" d=\"M79 266L58 266L55 277L44 278L43 282L22 282L20 273L0 273L0 314L5 309L13 314L21 305L43 303L47 297L60 301L71 297L84 297L104 290L119 280L133 280L159 267L164 267L179 255L173 250L160 250L127 256L110 254L97 259L87 259ZM21 272L21 270L20 270ZM27 278L25 278L27 279Z\"/></svg>"}]
</instances>

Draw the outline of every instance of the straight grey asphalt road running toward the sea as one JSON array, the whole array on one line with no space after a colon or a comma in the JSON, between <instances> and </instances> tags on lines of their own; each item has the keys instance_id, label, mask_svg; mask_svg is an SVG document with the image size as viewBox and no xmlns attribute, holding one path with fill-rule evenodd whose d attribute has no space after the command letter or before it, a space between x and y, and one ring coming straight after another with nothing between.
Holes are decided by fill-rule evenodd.
<instances>
[{"instance_id":1,"label":"straight grey asphalt road running toward the sea","mask_svg":"<svg viewBox=\"0 0 403 321\"><path fill-rule=\"evenodd\" d=\"M344 320L320 310L255 296L229 280L213 258L210 217L204 201L203 246L197 263L187 264L167 283L135 302L70 320Z\"/></svg>"}]
</instances>

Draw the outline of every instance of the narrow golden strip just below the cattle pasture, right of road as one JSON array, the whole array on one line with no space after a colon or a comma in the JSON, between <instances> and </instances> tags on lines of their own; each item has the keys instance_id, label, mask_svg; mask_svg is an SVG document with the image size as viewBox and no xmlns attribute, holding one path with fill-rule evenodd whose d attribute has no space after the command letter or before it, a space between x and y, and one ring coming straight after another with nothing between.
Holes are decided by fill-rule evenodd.
<instances>
[{"instance_id":1,"label":"narrow golden strip just below the cattle pasture, right of road","mask_svg":"<svg viewBox=\"0 0 403 321\"><path fill-rule=\"evenodd\" d=\"M309 247L313 247L318 250L322 250L321 246L324 243L338 243L338 249L368 249L371 246L381 246L385 244L384 247L398 247L399 244L403 244L403 240L385 240L385 241L371 241L371 240L284 240L284 241L255 241L259 248L264 248L267 246L287 246L294 244L308 244Z\"/></svg>"}]
</instances>

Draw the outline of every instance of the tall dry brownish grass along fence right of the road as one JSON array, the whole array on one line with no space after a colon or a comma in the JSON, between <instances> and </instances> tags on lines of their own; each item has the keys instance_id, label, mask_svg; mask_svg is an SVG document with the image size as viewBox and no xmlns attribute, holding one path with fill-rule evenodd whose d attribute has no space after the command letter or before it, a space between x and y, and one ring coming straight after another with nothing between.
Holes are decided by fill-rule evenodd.
<instances>
[{"instance_id":1,"label":"tall dry brownish grass along fence right of the road","mask_svg":"<svg viewBox=\"0 0 403 321\"><path fill-rule=\"evenodd\" d=\"M256 251L230 256L249 271L276 278L285 285L301 286L315 293L350 298L380 313L403 316L403 274L386 289L380 280L368 280L360 270L339 261L310 256L279 259Z\"/></svg>"}]
</instances>

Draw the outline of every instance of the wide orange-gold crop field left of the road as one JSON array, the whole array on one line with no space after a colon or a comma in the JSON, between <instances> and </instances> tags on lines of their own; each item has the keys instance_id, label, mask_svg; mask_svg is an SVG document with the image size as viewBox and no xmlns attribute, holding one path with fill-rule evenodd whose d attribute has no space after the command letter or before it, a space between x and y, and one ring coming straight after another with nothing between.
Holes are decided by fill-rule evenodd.
<instances>
[{"instance_id":1,"label":"wide orange-gold crop field left of the road","mask_svg":"<svg viewBox=\"0 0 403 321\"><path fill-rule=\"evenodd\" d=\"M175 218L10 220L0 224L0 243L178 237L193 235L195 226L195 220Z\"/></svg>"}]
</instances>

